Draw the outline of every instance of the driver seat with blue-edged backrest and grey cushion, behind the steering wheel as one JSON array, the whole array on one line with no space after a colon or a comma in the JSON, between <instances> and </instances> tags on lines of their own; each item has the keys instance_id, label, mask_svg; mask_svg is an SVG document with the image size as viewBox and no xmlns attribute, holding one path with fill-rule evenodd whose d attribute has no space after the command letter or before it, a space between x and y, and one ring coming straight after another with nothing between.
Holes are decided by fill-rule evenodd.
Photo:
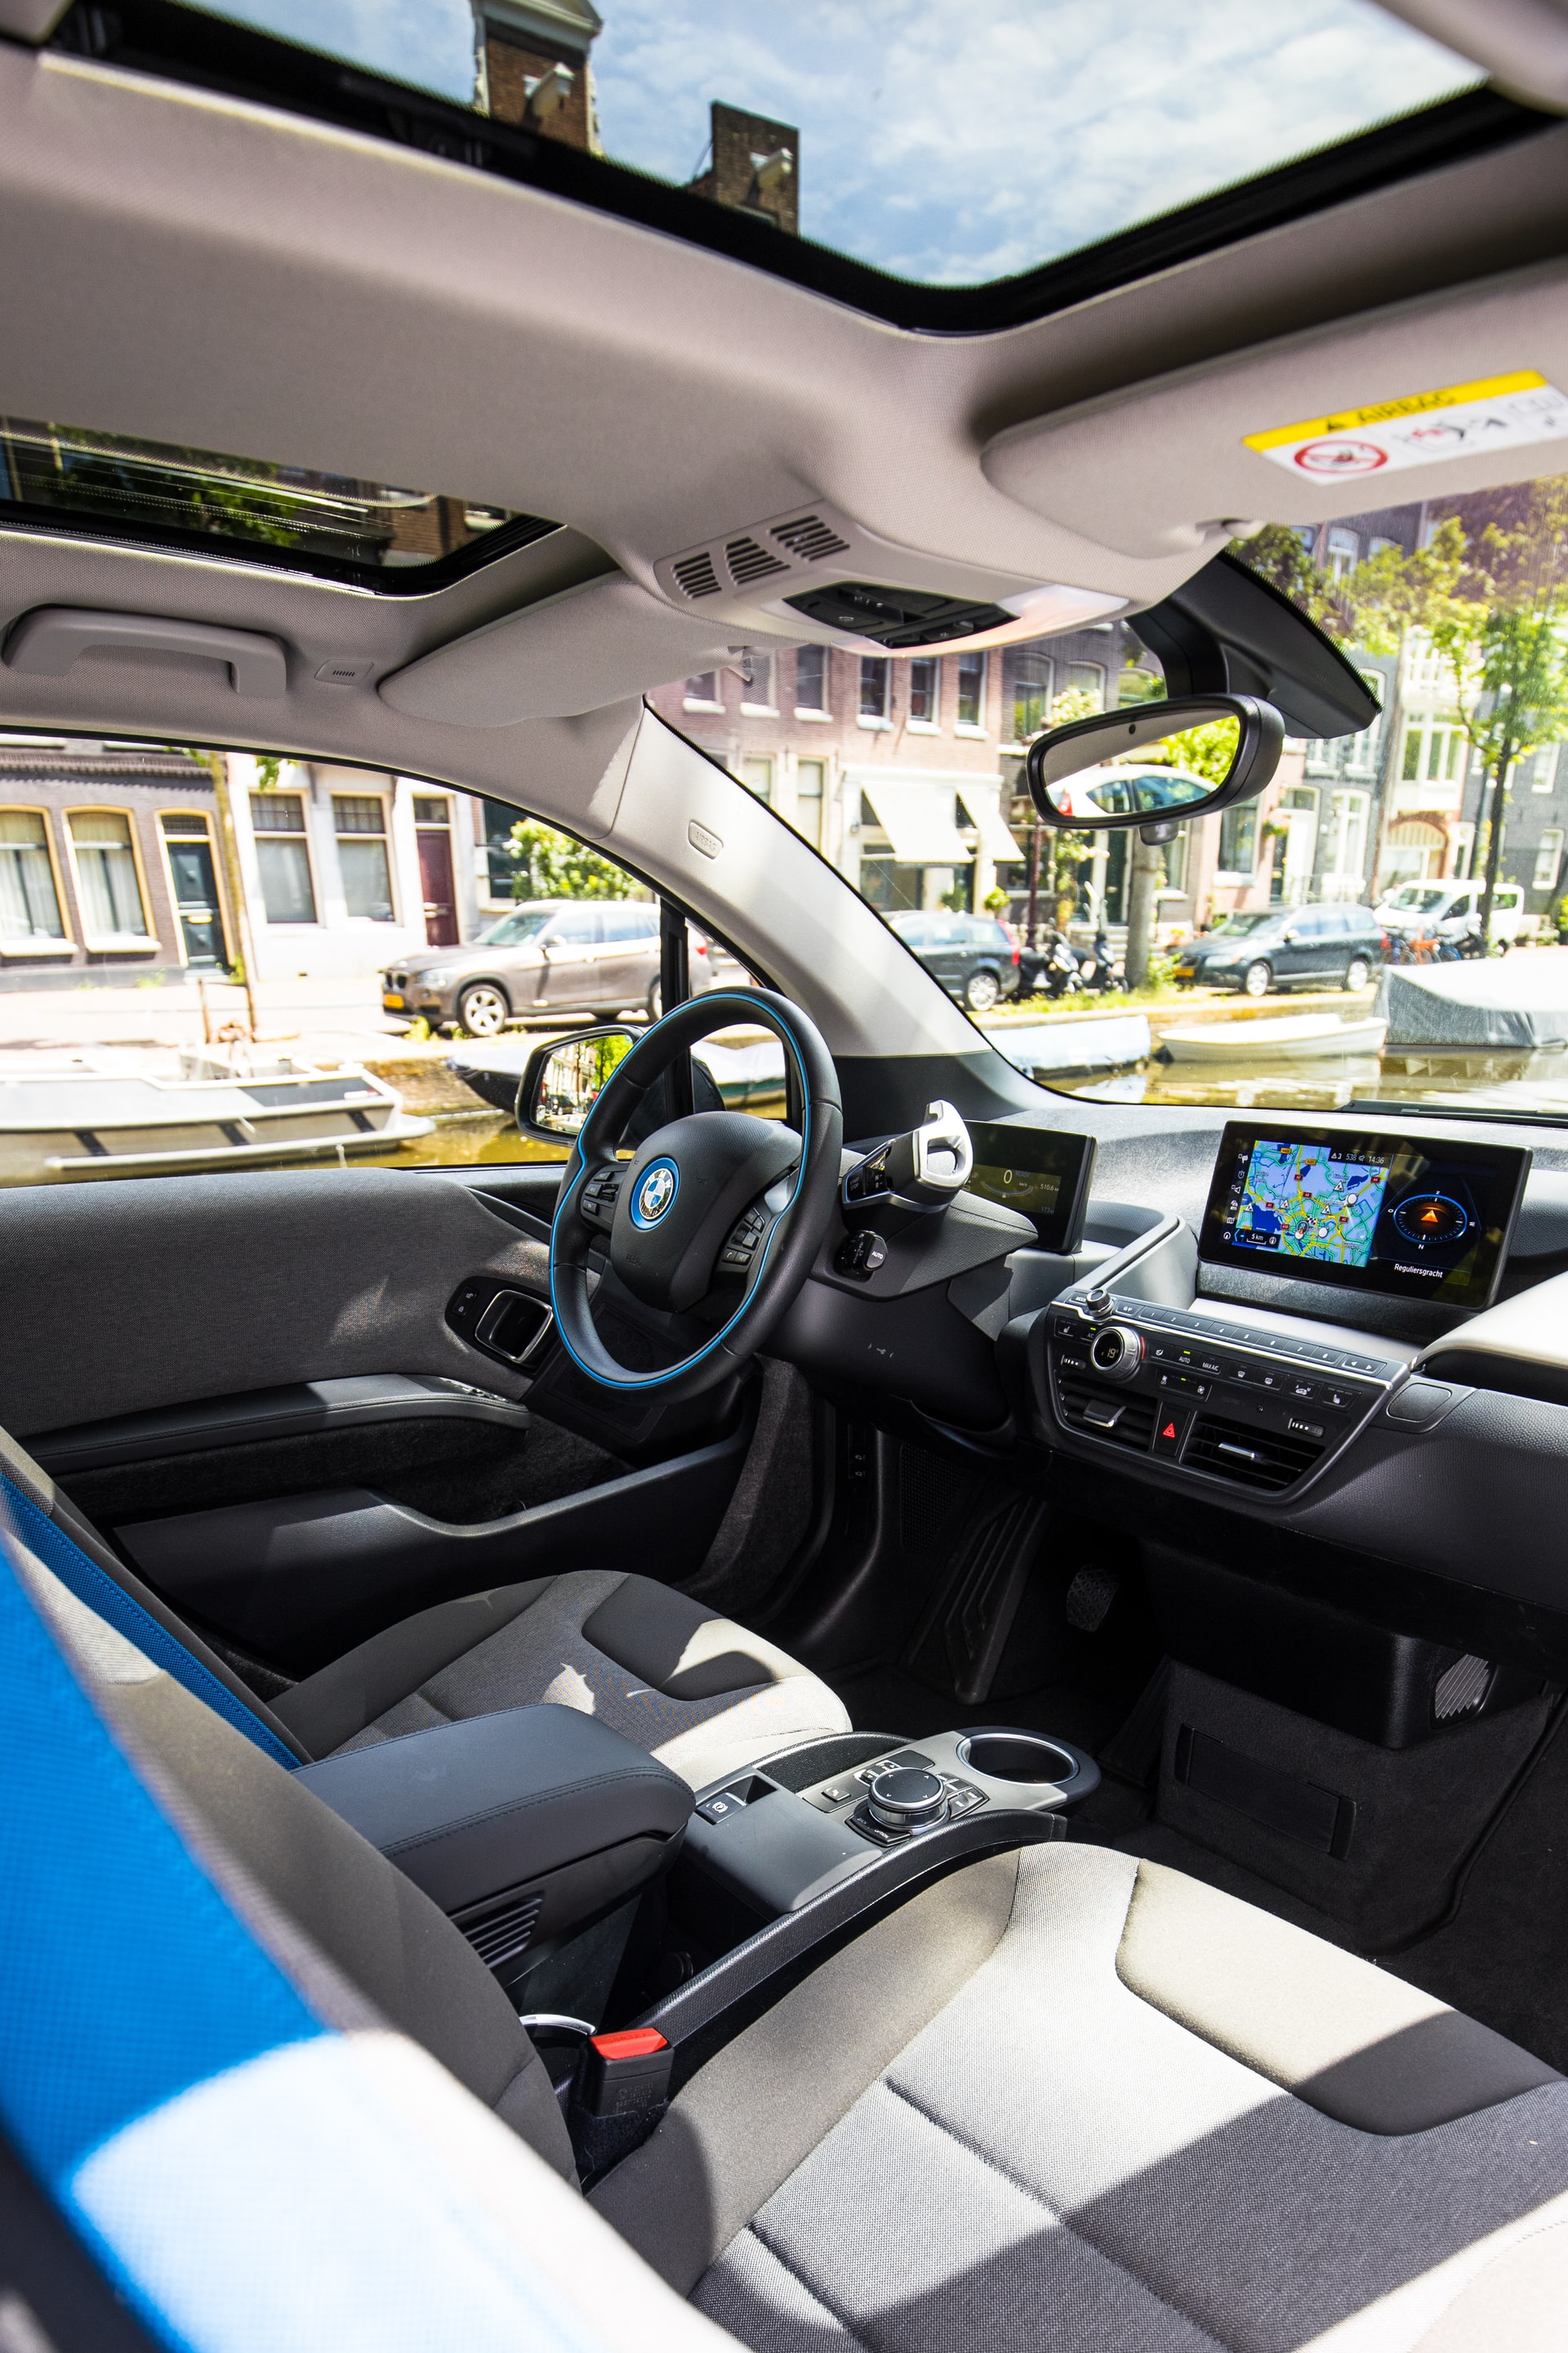
<instances>
[{"instance_id":1,"label":"driver seat with blue-edged backrest and grey cushion, behind the steering wheel","mask_svg":"<svg viewBox=\"0 0 1568 2353\"><path fill-rule=\"evenodd\" d=\"M621 1569L576 1569L437 1602L263 1704L103 1544L0 1431L0 1487L24 1541L78 1600L282 1762L552 1701L637 1741L705 1788L802 1741L851 1729L797 1659L733 1619Z\"/></svg>"}]
</instances>

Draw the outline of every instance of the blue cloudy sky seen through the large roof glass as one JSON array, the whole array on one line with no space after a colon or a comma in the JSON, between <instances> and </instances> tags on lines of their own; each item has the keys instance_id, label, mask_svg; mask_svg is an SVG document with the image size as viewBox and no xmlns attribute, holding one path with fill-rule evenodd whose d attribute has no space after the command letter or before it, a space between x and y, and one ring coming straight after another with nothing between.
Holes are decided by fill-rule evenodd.
<instances>
[{"instance_id":1,"label":"blue cloudy sky seen through the large roof glass","mask_svg":"<svg viewBox=\"0 0 1568 2353\"><path fill-rule=\"evenodd\" d=\"M597 0L604 151L689 181L708 101L799 127L802 233L976 285L1267 172L1476 68L1373 0ZM226 14L473 96L468 0Z\"/></svg>"}]
</instances>

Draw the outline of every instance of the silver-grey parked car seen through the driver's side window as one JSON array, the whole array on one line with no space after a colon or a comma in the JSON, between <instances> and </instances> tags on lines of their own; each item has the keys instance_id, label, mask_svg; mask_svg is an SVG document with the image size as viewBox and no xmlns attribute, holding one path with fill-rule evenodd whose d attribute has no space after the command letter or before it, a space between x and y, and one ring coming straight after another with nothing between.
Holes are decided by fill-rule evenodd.
<instances>
[{"instance_id":1,"label":"silver-grey parked car seen through the driver's side window","mask_svg":"<svg viewBox=\"0 0 1568 2353\"><path fill-rule=\"evenodd\" d=\"M712 951L691 939L691 984L712 986ZM733 962L733 960L731 960ZM465 948L400 955L381 974L390 1014L423 1016L494 1038L531 1014L658 1019L658 906L654 899L527 899Z\"/></svg>"}]
</instances>

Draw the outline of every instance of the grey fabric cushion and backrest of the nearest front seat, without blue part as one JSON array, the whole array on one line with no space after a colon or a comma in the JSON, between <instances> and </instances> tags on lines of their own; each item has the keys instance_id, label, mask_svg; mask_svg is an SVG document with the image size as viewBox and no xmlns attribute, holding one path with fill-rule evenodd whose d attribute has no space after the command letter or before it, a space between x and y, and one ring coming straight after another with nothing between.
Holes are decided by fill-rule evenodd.
<instances>
[{"instance_id":1,"label":"grey fabric cushion and backrest of the nearest front seat, without blue part","mask_svg":"<svg viewBox=\"0 0 1568 2353\"><path fill-rule=\"evenodd\" d=\"M543 2066L458 1929L24 1572L197 1852L270 1906L268 1934L308 1939L571 2179ZM590 2207L755 2353L1556 2353L1568 2082L1194 1880L1030 1847L825 1960Z\"/></svg>"}]
</instances>

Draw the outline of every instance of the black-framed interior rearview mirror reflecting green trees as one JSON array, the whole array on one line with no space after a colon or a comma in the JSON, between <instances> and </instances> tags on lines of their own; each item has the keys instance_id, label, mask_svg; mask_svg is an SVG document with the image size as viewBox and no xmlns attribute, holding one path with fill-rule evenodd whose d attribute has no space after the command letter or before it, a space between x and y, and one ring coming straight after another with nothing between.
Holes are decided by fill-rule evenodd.
<instances>
[{"instance_id":1,"label":"black-framed interior rearview mirror reflecting green trees","mask_svg":"<svg viewBox=\"0 0 1568 2353\"><path fill-rule=\"evenodd\" d=\"M1279 767L1284 739L1279 711L1251 694L1100 711L1037 736L1025 762L1030 800L1046 826L1140 826L1145 840L1171 840L1190 816L1253 800Z\"/></svg>"}]
</instances>

